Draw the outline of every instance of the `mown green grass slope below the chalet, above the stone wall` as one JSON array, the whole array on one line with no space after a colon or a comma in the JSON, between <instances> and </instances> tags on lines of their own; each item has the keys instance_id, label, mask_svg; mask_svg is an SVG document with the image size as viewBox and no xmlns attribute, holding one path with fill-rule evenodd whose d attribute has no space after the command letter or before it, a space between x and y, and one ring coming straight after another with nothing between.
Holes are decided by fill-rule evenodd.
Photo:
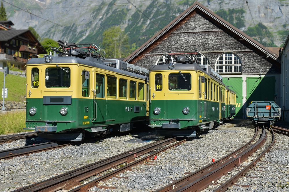
<instances>
[{"instance_id":1,"label":"mown green grass slope below the chalet, above the stone wall","mask_svg":"<svg viewBox=\"0 0 289 192\"><path fill-rule=\"evenodd\" d=\"M0 90L2 93L4 73L0 72ZM8 98L5 101L25 101L26 78L8 74L5 78L5 87L8 88ZM2 100L2 97L0 97Z\"/></svg>"}]
</instances>

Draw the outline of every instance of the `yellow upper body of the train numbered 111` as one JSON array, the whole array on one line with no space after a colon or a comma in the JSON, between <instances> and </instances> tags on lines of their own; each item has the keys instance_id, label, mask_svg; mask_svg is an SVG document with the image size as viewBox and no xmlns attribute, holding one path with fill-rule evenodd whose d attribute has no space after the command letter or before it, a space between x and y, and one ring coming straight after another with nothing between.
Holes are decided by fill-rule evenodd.
<instances>
[{"instance_id":1,"label":"yellow upper body of the train numbered 111","mask_svg":"<svg viewBox=\"0 0 289 192\"><path fill-rule=\"evenodd\" d=\"M150 99L210 100L219 102L224 96L221 88L225 89L225 86L208 74L198 70L181 70L180 72L179 70L151 71L149 74ZM171 89L171 85L175 83L175 79L172 76L176 74L186 76L187 81L184 81L184 83L190 84L186 85L187 89ZM203 82L201 81L201 76L204 77Z\"/></svg>"}]
</instances>

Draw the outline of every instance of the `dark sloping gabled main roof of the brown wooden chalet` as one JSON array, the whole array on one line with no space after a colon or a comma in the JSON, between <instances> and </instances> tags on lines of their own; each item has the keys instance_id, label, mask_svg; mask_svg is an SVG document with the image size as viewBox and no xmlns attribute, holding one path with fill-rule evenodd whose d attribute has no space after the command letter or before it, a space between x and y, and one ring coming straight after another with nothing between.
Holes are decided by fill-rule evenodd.
<instances>
[{"instance_id":1,"label":"dark sloping gabled main roof of the brown wooden chalet","mask_svg":"<svg viewBox=\"0 0 289 192\"><path fill-rule=\"evenodd\" d=\"M9 41L10 39L16 38L22 35L23 37L30 39L31 43L35 44L38 49L38 54L45 54L45 49L41 46L40 42L36 37L31 33L28 29L20 29L20 30L8 30L8 31L0 31L0 42L1 41Z\"/></svg>"}]
</instances>

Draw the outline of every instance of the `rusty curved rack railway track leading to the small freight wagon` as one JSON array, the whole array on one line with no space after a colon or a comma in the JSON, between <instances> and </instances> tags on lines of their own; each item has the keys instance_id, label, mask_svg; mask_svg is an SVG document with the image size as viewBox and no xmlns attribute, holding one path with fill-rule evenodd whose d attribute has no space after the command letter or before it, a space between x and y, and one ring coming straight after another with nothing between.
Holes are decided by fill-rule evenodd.
<instances>
[{"instance_id":1,"label":"rusty curved rack railway track leading to the small freight wagon","mask_svg":"<svg viewBox=\"0 0 289 192\"><path fill-rule=\"evenodd\" d=\"M225 183L221 184L215 191L225 191L227 187L234 185L234 183L250 168L252 168L257 161L271 148L273 142L275 141L274 132L272 129L272 142L271 144L256 158L254 159L248 166L242 168L242 170L231 177ZM266 130L262 128L262 135L258 140L253 142L256 139L258 133L258 128L255 130L255 135L253 138L246 143L244 146L240 147L236 151L233 151L229 155L218 159L217 161L193 172L188 173L187 176L174 181L161 189L156 190L156 192L164 192L164 191L201 191L206 189L209 185L212 185L212 181L216 181L221 176L227 174L234 168L240 166L240 164L247 159L251 154L253 154L257 149L259 149L266 140Z\"/></svg>"}]
</instances>

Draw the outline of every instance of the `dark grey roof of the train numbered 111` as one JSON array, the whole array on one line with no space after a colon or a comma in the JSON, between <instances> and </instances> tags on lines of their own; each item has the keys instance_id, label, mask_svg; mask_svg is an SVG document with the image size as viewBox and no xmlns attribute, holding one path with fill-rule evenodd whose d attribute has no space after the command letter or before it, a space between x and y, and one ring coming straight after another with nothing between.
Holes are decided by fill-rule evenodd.
<instances>
[{"instance_id":1,"label":"dark grey roof of the train numbered 111","mask_svg":"<svg viewBox=\"0 0 289 192\"><path fill-rule=\"evenodd\" d=\"M217 82L221 83L222 85L226 86L222 81L216 79L210 73L208 73L205 70L203 70L199 66L199 64L197 64L197 63L193 63L193 64L176 63L175 64L175 69L173 69L173 70L198 70L198 71L202 71L203 73L209 75L215 81L217 81ZM153 65L153 66L151 66L149 68L149 71L170 71L170 69L168 69L168 64L161 64L161 65Z\"/></svg>"}]
</instances>

